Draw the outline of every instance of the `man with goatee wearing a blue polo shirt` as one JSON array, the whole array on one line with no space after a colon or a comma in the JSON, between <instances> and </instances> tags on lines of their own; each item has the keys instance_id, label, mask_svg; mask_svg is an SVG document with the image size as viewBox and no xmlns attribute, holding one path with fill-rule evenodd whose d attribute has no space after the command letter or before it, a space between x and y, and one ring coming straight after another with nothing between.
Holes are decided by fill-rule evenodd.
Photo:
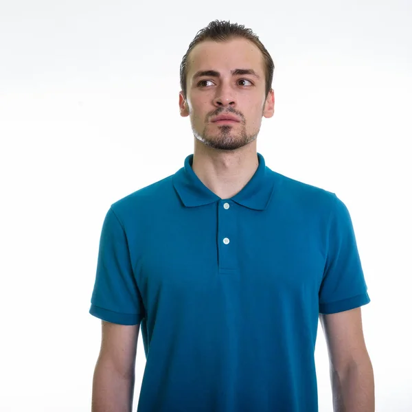
<instances>
[{"instance_id":1,"label":"man with goatee wearing a blue polo shirt","mask_svg":"<svg viewBox=\"0 0 412 412\"><path fill-rule=\"evenodd\" d=\"M347 208L269 169L273 61L243 26L214 21L183 58L179 106L194 154L117 201L102 228L90 313L102 319L94 412L314 412L319 317L334 411L374 411L361 306L369 303Z\"/></svg>"}]
</instances>

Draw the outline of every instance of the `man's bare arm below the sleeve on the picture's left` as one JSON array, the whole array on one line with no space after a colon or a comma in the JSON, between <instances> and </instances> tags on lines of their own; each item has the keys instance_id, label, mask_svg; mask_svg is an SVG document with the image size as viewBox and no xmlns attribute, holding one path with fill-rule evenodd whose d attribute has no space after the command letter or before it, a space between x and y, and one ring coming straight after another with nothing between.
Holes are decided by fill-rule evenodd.
<instances>
[{"instance_id":1,"label":"man's bare arm below the sleeve on the picture's left","mask_svg":"<svg viewBox=\"0 0 412 412\"><path fill-rule=\"evenodd\" d=\"M131 412L139 325L102 321L102 343L93 375L92 412Z\"/></svg>"}]
</instances>

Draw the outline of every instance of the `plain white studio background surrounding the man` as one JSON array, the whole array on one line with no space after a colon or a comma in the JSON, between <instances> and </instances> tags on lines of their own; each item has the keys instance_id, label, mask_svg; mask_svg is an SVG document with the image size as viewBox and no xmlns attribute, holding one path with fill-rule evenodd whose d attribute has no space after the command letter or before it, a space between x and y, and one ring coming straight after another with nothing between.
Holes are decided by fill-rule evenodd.
<instances>
[{"instance_id":1,"label":"plain white studio background surrounding the man","mask_svg":"<svg viewBox=\"0 0 412 412\"><path fill-rule=\"evenodd\" d=\"M349 208L376 411L412 411L409 0L1 1L1 411L90 411L104 215L193 152L179 65L214 19L271 53L275 115L258 152ZM141 335L137 352L134 411ZM320 324L315 356L319 411L332 411Z\"/></svg>"}]
</instances>

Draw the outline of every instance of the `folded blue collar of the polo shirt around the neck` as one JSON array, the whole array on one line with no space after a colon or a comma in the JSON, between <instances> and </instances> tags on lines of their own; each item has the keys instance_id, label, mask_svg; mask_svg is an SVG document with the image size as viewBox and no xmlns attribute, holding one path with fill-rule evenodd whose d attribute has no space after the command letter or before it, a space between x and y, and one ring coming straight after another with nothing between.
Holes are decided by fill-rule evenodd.
<instances>
[{"instance_id":1,"label":"folded blue collar of the polo shirt around the neck","mask_svg":"<svg viewBox=\"0 0 412 412\"><path fill-rule=\"evenodd\" d=\"M186 207L208 205L220 201L220 197L206 187L192 169L193 154L185 159L185 165L173 175L174 188ZM259 165L251 180L231 201L255 210L264 210L271 200L275 174L265 165L258 153Z\"/></svg>"}]
</instances>

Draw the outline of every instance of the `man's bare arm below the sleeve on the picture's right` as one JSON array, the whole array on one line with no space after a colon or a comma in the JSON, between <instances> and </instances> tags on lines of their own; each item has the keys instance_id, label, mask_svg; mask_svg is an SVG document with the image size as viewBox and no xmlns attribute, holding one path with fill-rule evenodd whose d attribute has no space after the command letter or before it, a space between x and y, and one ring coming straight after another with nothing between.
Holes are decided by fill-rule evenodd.
<instances>
[{"instance_id":1,"label":"man's bare arm below the sleeve on the picture's right","mask_svg":"<svg viewBox=\"0 0 412 412\"><path fill-rule=\"evenodd\" d=\"M374 412L374 371L363 336L361 307L319 314L330 359L334 412Z\"/></svg>"}]
</instances>

